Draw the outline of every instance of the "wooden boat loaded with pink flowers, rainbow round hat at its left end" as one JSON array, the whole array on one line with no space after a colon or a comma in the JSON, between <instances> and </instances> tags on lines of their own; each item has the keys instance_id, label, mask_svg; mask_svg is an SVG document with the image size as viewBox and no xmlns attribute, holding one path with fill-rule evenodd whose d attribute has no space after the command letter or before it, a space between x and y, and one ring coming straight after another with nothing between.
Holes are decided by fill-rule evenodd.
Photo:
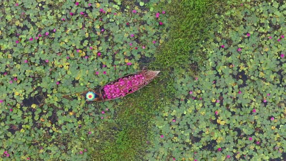
<instances>
[{"instance_id":1,"label":"wooden boat loaded with pink flowers, rainbow round hat at its left end","mask_svg":"<svg viewBox=\"0 0 286 161\"><path fill-rule=\"evenodd\" d=\"M83 92L83 95L87 98L86 101L97 102L109 101L116 98L125 97L146 86L150 81L158 77L157 75L159 74L159 72L160 71L143 70L141 72L128 74L115 81L111 81L110 83L100 87L99 89L89 89L88 91ZM136 81L136 78L139 81ZM129 83L129 85L127 85L127 83ZM115 90L121 91L121 95L114 95L112 91ZM122 92L124 90L128 91ZM93 96L93 94L95 95Z\"/></svg>"}]
</instances>

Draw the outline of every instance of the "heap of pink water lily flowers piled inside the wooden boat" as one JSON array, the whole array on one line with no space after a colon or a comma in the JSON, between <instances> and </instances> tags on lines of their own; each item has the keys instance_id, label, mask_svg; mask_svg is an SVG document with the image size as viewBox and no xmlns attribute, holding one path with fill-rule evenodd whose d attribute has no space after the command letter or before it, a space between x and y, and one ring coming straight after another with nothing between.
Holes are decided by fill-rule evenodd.
<instances>
[{"instance_id":1,"label":"heap of pink water lily flowers piled inside the wooden boat","mask_svg":"<svg viewBox=\"0 0 286 161\"><path fill-rule=\"evenodd\" d=\"M138 90L145 82L145 77L142 74L137 74L125 78L120 78L118 81L104 86L104 95L108 99L125 96Z\"/></svg>"}]
</instances>

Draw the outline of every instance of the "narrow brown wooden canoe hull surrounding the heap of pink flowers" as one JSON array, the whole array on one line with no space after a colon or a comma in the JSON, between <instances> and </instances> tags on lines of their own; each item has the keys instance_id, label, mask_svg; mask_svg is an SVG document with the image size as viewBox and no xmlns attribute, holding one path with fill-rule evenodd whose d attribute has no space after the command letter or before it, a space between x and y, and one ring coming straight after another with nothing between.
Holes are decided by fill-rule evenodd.
<instances>
[{"instance_id":1,"label":"narrow brown wooden canoe hull surrounding the heap of pink flowers","mask_svg":"<svg viewBox=\"0 0 286 161\"><path fill-rule=\"evenodd\" d=\"M138 91L139 89L143 88L150 81L153 81L156 77L158 77L159 72L160 71L143 70L143 71L140 71L137 73L128 74L126 76L123 76L123 77L115 80L115 81L111 81L110 83L107 83L106 85L104 85L98 89L95 89L95 90L90 89L89 91L85 91L83 93L83 95L87 98L86 101L97 101L97 102L109 101L109 100L125 97L125 96L127 96L131 93L134 93L135 91ZM124 96L108 98L105 95L105 90L107 90L107 89L104 89L104 87L106 87L107 85L116 84L117 82L119 83L119 81L122 81L122 80L128 81L129 78L132 79L132 77L136 76L136 75L143 76L143 78L144 78L143 81L140 81L140 85L137 85L136 87L132 88L133 90L129 90ZM93 95L93 96L90 96L90 95ZM88 97L90 97L91 99L88 99Z\"/></svg>"}]
</instances>

